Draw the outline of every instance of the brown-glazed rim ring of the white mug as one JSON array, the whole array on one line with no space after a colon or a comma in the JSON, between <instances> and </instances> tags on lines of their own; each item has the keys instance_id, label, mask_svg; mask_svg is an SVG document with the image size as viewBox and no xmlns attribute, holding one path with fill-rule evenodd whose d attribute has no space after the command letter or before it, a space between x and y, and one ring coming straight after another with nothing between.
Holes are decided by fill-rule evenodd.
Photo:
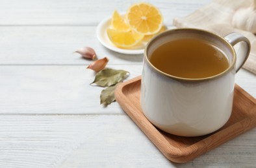
<instances>
[{"instance_id":1,"label":"brown-glazed rim ring of the white mug","mask_svg":"<svg viewBox=\"0 0 256 168\"><path fill-rule=\"evenodd\" d=\"M186 32L201 32L204 34L209 34L211 36L215 36L219 41L224 42L229 48L231 48L231 52L232 52L232 56L233 56L233 60L232 62L229 64L229 67L226 68L224 71L220 72L219 74L216 74L214 76L209 76L209 77L205 77L205 78L182 78L179 76L173 76L171 74L167 74L166 72L163 72L162 70L159 70L158 68L156 68L150 61L149 58L147 56L147 51L149 50L149 47L152 45L152 43L154 43L155 41L157 41L158 39L166 36L167 34L170 34L171 32L179 32L179 31L186 31ZM203 29L199 29L199 28L173 28L170 30L166 30L165 32L160 33L159 35L153 37L153 39L151 39L147 45L146 48L144 50L144 59L146 60L146 62L150 65L151 68L153 68L154 70L156 70L157 72L159 72L159 74L162 74L164 76L167 76L169 78L172 79L176 79L179 81L206 81L206 80L210 80L210 79L215 79L215 78L219 78L221 76L224 76L225 74L227 74L227 72L231 71L234 67L235 67L235 63L237 61L237 54L235 52L235 49L233 48L233 46L231 45L231 43L229 43L227 41L227 39L225 39L222 36L219 36L217 34L214 34L213 32L207 31L207 30L203 30Z\"/></svg>"}]
</instances>

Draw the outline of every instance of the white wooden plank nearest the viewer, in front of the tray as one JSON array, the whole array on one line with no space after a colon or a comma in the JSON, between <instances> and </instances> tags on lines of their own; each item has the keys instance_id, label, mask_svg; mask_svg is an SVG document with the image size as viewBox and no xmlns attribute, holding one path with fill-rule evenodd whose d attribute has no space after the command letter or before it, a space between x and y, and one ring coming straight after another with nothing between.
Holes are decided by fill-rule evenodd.
<instances>
[{"instance_id":1,"label":"white wooden plank nearest the viewer, in front of the tray","mask_svg":"<svg viewBox=\"0 0 256 168\"><path fill-rule=\"evenodd\" d=\"M126 115L1 116L1 167L254 167L256 129L169 162Z\"/></svg>"}]
</instances>

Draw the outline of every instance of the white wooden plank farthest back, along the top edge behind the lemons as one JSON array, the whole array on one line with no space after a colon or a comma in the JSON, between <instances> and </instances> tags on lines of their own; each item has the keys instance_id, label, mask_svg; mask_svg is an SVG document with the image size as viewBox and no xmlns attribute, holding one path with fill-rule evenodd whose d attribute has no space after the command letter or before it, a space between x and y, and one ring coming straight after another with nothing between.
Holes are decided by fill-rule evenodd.
<instances>
[{"instance_id":1,"label":"white wooden plank farthest back, along the top edge behind the lemons","mask_svg":"<svg viewBox=\"0 0 256 168\"><path fill-rule=\"evenodd\" d=\"M174 16L186 16L211 0L151 0L164 16L167 25L172 25ZM0 25L94 25L114 10L125 12L136 0L125 1L0 1Z\"/></svg>"}]
</instances>

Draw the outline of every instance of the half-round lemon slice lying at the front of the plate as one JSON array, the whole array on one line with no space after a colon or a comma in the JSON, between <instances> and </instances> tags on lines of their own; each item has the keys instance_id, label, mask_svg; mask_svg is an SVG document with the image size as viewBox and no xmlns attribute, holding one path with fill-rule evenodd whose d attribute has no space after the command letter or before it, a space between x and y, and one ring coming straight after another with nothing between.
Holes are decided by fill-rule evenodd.
<instances>
[{"instance_id":1,"label":"half-round lemon slice lying at the front of the plate","mask_svg":"<svg viewBox=\"0 0 256 168\"><path fill-rule=\"evenodd\" d=\"M144 35L138 34L132 30L120 31L113 28L107 29L107 35L110 41L120 48L130 48L142 41Z\"/></svg>"}]
</instances>

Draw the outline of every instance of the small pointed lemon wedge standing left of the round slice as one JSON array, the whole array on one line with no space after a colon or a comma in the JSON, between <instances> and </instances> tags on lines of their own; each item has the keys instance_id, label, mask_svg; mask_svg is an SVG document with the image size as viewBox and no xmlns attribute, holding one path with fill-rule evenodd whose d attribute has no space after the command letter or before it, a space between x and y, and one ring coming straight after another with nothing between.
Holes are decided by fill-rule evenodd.
<instances>
[{"instance_id":1,"label":"small pointed lemon wedge standing left of the round slice","mask_svg":"<svg viewBox=\"0 0 256 168\"><path fill-rule=\"evenodd\" d=\"M127 21L125 21L125 19L122 16L120 16L120 14L116 10L112 15L111 26L112 28L120 31L131 30L130 26L127 24Z\"/></svg>"}]
</instances>

